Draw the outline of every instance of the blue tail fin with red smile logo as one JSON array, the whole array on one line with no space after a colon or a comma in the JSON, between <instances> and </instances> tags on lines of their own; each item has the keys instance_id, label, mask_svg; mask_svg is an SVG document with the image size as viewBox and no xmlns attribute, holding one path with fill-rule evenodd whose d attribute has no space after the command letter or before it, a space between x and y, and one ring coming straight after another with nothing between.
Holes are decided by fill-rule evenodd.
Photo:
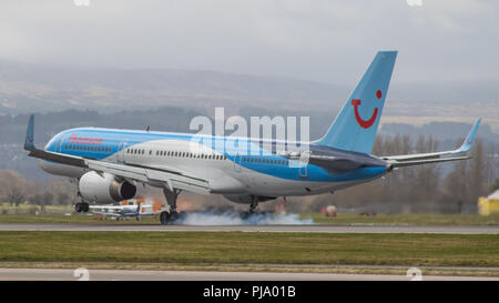
<instances>
[{"instance_id":1,"label":"blue tail fin with red smile logo","mask_svg":"<svg viewBox=\"0 0 499 303\"><path fill-rule=\"evenodd\" d=\"M376 54L327 133L315 143L369 154L376 139L396 51Z\"/></svg>"}]
</instances>

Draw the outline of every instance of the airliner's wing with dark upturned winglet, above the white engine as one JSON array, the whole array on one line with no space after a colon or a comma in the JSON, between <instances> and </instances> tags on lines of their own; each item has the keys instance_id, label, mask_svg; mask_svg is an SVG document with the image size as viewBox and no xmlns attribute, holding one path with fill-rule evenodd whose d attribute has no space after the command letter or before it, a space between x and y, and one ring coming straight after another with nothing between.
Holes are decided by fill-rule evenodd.
<instances>
[{"instance_id":1,"label":"airliner's wing with dark upturned winglet, above the white engine","mask_svg":"<svg viewBox=\"0 0 499 303\"><path fill-rule=\"evenodd\" d=\"M145 165L131 165L126 163L112 163L95 159L74 156L64 153L50 152L34 147L34 118L30 115L28 131L24 141L24 150L29 151L29 156L48 160L61 164L85 168L96 172L106 172L123 179L144 182L149 184L161 183L170 190L185 190L189 192L208 194L210 184L206 180L192 174L167 168L151 168Z\"/></svg>"}]
</instances>

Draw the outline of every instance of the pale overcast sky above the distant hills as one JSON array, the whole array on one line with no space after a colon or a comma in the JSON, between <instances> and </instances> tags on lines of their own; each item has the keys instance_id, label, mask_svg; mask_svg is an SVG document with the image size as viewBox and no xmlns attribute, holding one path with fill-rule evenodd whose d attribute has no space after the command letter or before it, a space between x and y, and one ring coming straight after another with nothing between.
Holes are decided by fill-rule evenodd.
<instances>
[{"instance_id":1,"label":"pale overcast sky above the distant hills","mask_svg":"<svg viewBox=\"0 0 499 303\"><path fill-rule=\"evenodd\" d=\"M74 1L2 0L0 59L352 84L395 49L395 81L499 81L496 0Z\"/></svg>"}]
</instances>

